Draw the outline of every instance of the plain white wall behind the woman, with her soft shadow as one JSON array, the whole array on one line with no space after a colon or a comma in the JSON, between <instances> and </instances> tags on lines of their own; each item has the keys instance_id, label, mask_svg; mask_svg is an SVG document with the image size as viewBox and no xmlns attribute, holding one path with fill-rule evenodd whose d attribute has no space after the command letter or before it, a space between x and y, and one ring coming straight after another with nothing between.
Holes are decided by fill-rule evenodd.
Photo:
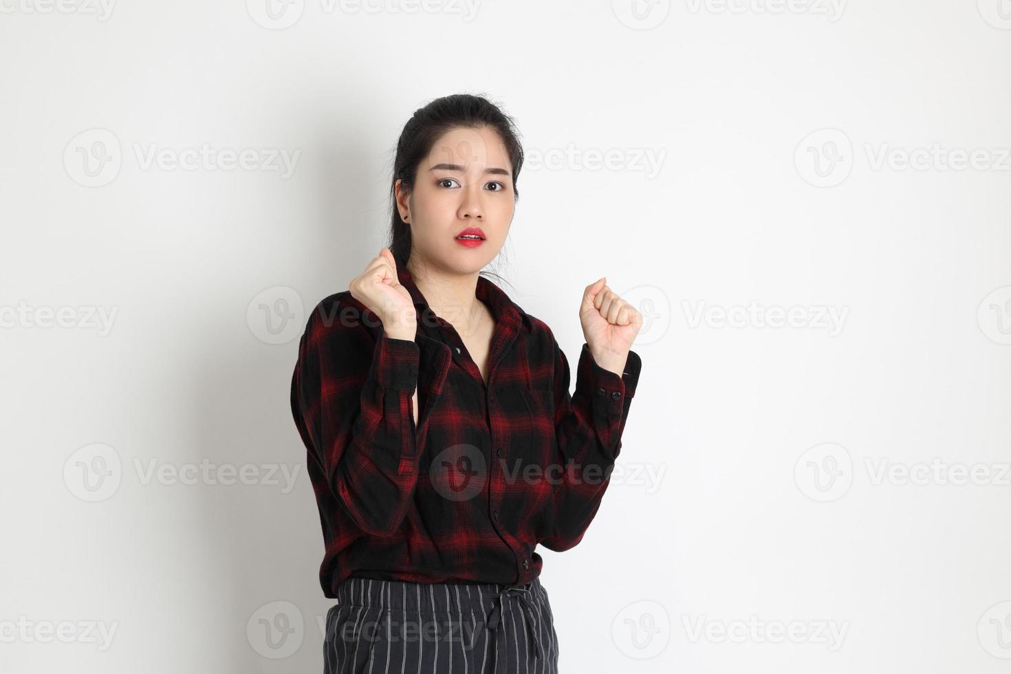
<instances>
[{"instance_id":1,"label":"plain white wall behind the woman, with her soft shadow","mask_svg":"<svg viewBox=\"0 0 1011 674\"><path fill-rule=\"evenodd\" d=\"M298 336L469 92L528 153L503 289L573 364L600 276L647 318L625 477L539 549L561 670L1008 671L1007 0L264 1L0 0L0 670L321 671Z\"/></svg>"}]
</instances>

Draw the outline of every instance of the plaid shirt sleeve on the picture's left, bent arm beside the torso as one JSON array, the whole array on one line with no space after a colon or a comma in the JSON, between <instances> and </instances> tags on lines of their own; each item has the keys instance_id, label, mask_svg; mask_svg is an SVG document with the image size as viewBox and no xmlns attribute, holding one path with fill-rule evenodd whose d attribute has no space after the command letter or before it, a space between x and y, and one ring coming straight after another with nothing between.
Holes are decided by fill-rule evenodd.
<instances>
[{"instance_id":1,"label":"plaid shirt sleeve on the picture's left, bent arm beside the torso","mask_svg":"<svg viewBox=\"0 0 1011 674\"><path fill-rule=\"evenodd\" d=\"M420 349L337 310L320 303L309 317L292 375L292 413L344 510L363 532L389 536L418 480L411 398Z\"/></svg>"}]
</instances>

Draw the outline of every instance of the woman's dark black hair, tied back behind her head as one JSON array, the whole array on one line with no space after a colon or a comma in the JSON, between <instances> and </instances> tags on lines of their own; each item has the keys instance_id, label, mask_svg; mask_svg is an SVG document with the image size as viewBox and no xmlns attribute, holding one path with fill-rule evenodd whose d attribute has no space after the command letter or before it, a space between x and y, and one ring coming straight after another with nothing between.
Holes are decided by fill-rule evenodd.
<instances>
[{"instance_id":1,"label":"woman's dark black hair, tied back behind her head","mask_svg":"<svg viewBox=\"0 0 1011 674\"><path fill-rule=\"evenodd\" d=\"M432 152L432 146L446 131L452 128L479 128L488 126L494 130L505 145L510 162L513 164L513 192L520 198L516 186L523 167L523 147L520 145L516 124L498 106L482 96L453 94L437 98L425 107L415 110L415 114L403 125L396 141L396 156L393 159L393 177L389 186L390 197L390 243L397 268L406 267L410 258L410 226L400 219L396 207L396 181L400 189L407 193L413 189L418 175L418 165Z\"/></svg>"}]
</instances>

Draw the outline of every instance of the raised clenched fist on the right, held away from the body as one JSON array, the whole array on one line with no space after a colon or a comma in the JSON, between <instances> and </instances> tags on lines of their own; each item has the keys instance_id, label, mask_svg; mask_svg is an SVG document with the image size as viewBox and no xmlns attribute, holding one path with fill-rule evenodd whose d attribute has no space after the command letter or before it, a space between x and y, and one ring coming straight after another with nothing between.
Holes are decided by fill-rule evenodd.
<instances>
[{"instance_id":1,"label":"raised clenched fist on the right, held away from the body","mask_svg":"<svg viewBox=\"0 0 1011 674\"><path fill-rule=\"evenodd\" d=\"M579 306L579 322L593 360L621 375L635 335L642 328L642 314L605 285L607 280L602 276L586 286Z\"/></svg>"}]
</instances>

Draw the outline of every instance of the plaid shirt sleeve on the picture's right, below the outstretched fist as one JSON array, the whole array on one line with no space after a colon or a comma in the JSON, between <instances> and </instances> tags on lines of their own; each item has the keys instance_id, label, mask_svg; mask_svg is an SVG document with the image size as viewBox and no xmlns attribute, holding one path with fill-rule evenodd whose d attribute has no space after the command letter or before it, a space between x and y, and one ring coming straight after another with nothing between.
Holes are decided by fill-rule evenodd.
<instances>
[{"instance_id":1,"label":"plaid shirt sleeve on the picture's right, below the outstretched fist","mask_svg":"<svg viewBox=\"0 0 1011 674\"><path fill-rule=\"evenodd\" d=\"M622 431L639 381L642 360L630 351L625 371L605 370L585 343L579 354L575 392L569 395L569 366L558 344L554 348L555 436L560 475L555 485L552 535L541 541L561 552L582 540L608 488L621 453Z\"/></svg>"}]
</instances>

